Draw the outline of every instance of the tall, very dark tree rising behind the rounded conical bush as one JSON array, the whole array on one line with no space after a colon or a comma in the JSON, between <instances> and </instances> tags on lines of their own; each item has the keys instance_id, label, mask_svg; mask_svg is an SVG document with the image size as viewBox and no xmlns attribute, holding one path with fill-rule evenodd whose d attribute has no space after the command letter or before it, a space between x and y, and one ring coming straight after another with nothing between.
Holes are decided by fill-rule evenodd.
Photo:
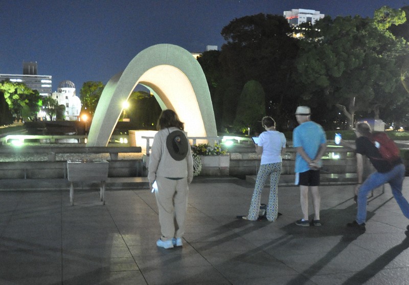
<instances>
[{"instance_id":1,"label":"tall, very dark tree rising behind the rounded conical bush","mask_svg":"<svg viewBox=\"0 0 409 285\"><path fill-rule=\"evenodd\" d=\"M223 78L229 77L231 89L238 90L235 97L247 81L257 80L266 94L266 113L280 124L293 118L297 104L291 74L298 46L288 36L291 31L283 16L262 13L235 18L221 31L226 40L220 54Z\"/></svg>"}]
</instances>

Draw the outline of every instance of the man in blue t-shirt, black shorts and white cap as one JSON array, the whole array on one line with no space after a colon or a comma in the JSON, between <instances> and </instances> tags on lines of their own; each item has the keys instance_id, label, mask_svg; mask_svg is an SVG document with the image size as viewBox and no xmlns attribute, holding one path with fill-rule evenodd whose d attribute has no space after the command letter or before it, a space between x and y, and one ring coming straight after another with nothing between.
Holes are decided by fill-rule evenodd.
<instances>
[{"instance_id":1,"label":"man in blue t-shirt, black shorts and white cap","mask_svg":"<svg viewBox=\"0 0 409 285\"><path fill-rule=\"evenodd\" d=\"M300 203L303 218L296 222L298 226L308 227L308 190L311 189L314 205L314 226L321 226L320 222L320 167L321 157L327 148L327 140L321 125L311 121L309 107L299 106L296 111L297 122L300 124L292 133L293 147L296 156L296 185L300 185Z\"/></svg>"}]
</instances>

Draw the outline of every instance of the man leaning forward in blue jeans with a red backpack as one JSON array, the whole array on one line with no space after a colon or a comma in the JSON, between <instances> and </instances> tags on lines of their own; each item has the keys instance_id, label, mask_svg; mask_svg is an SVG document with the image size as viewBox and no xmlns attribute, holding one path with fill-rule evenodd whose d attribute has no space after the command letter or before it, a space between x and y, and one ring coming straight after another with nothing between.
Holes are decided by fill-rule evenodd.
<instances>
[{"instance_id":1,"label":"man leaning forward in blue jeans with a red backpack","mask_svg":"<svg viewBox=\"0 0 409 285\"><path fill-rule=\"evenodd\" d=\"M409 218L409 204L402 195L405 166L399 157L399 148L386 134L372 133L367 122L358 122L355 134L357 137L355 153L358 176L355 194L357 195L358 210L355 221L348 223L347 226L365 232L368 193L384 183L391 185L392 193L403 215ZM376 171L362 182L363 156L369 158Z\"/></svg>"}]
</instances>

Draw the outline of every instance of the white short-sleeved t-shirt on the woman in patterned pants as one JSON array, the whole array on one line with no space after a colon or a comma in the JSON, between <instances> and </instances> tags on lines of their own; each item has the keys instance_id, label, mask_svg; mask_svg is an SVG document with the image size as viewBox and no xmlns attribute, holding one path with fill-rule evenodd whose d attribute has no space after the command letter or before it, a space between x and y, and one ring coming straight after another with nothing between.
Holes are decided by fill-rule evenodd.
<instances>
[{"instance_id":1,"label":"white short-sleeved t-shirt on the woman in patterned pants","mask_svg":"<svg viewBox=\"0 0 409 285\"><path fill-rule=\"evenodd\" d=\"M258 146L263 147L261 164L281 162L281 149L285 147L286 139L277 130L266 130L259 136Z\"/></svg>"}]
</instances>

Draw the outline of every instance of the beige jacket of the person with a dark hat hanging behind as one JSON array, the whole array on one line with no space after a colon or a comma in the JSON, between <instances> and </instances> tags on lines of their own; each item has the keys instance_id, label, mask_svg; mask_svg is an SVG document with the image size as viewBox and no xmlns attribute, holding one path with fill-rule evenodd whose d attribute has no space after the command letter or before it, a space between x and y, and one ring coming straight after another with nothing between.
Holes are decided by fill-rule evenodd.
<instances>
[{"instance_id":1,"label":"beige jacket of the person with a dark hat hanging behind","mask_svg":"<svg viewBox=\"0 0 409 285\"><path fill-rule=\"evenodd\" d=\"M166 138L172 131L178 130L176 127L161 129L153 138L153 144L149 157L148 179L150 185L156 179L156 176L169 178L188 178L188 182L193 180L193 159L191 148L188 148L186 159L181 161L174 160L166 147ZM186 133L185 133L186 135Z\"/></svg>"}]
</instances>

